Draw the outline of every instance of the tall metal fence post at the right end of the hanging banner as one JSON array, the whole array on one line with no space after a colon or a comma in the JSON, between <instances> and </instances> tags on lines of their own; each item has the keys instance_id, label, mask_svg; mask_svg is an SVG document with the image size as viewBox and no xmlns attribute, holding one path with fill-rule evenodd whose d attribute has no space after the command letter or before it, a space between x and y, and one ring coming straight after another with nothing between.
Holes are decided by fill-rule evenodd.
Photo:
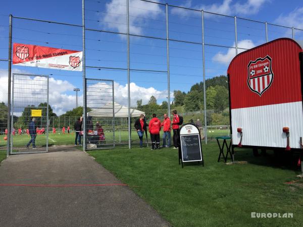
<instances>
[{"instance_id":1,"label":"tall metal fence post at the right end of the hanging banner","mask_svg":"<svg viewBox=\"0 0 303 227\"><path fill-rule=\"evenodd\" d=\"M86 81L85 81L85 14L84 1L82 0L82 77L83 77L83 151L86 150Z\"/></svg>"}]
</instances>

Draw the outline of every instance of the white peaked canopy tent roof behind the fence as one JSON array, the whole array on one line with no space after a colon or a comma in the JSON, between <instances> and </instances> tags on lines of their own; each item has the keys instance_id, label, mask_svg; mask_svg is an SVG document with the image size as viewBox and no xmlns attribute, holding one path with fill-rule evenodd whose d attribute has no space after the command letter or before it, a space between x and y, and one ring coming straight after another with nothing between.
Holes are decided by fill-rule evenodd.
<instances>
[{"instance_id":1,"label":"white peaked canopy tent roof behind the fence","mask_svg":"<svg viewBox=\"0 0 303 227\"><path fill-rule=\"evenodd\" d=\"M128 108L117 102L114 102L115 118L127 118ZM130 108L131 117L140 117L140 115L145 115L145 112ZM104 106L95 108L87 113L87 116L91 117L113 117L113 104L107 103Z\"/></svg>"}]
</instances>

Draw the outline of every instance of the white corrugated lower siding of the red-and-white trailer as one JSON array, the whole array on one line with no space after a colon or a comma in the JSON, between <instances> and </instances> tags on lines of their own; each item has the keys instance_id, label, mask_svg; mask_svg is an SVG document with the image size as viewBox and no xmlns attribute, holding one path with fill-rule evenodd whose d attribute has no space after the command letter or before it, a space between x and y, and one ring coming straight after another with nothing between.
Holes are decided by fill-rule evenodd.
<instances>
[{"instance_id":1,"label":"white corrugated lower siding of the red-and-white trailer","mask_svg":"<svg viewBox=\"0 0 303 227\"><path fill-rule=\"evenodd\" d=\"M290 147L299 147L299 138L303 137L302 102L290 102L231 110L233 144L240 142L242 128L242 145L286 147L286 135L283 127L289 127Z\"/></svg>"}]
</instances>

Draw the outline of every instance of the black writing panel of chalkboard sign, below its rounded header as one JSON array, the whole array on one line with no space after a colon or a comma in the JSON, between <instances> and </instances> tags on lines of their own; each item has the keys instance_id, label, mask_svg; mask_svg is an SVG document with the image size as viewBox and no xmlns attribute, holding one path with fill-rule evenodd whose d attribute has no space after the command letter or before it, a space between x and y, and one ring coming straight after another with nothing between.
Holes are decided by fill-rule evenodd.
<instances>
[{"instance_id":1,"label":"black writing panel of chalkboard sign, below its rounded header","mask_svg":"<svg viewBox=\"0 0 303 227\"><path fill-rule=\"evenodd\" d=\"M182 161L201 161L201 145L199 134L180 135Z\"/></svg>"}]
</instances>

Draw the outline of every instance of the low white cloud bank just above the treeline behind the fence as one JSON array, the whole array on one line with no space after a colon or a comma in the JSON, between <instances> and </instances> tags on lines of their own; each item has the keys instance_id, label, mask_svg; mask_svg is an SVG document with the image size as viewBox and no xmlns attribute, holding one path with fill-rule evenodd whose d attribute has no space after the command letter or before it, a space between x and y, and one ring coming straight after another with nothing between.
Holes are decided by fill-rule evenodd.
<instances>
[{"instance_id":1,"label":"low white cloud bank just above the treeline behind the fence","mask_svg":"<svg viewBox=\"0 0 303 227\"><path fill-rule=\"evenodd\" d=\"M14 70L13 73L21 73L20 70ZM24 73L24 72L23 72ZM7 103L8 99L8 73L6 70L0 70L0 102ZM29 88L31 89L30 94L26 94L26 98L19 98L20 107L15 108L15 115L19 116L21 115L21 112L23 111L24 107L27 105L38 105L41 101L44 101L42 97L46 97L46 90L42 89L43 81L39 79L38 77L33 77L32 80L28 81L27 83L24 83L25 80L22 80L19 85L17 85L18 81L15 80L15 88L16 86L19 86L19 88ZM49 105L52 106L53 111L57 115L62 115L67 110L71 110L75 108L76 106L76 95L69 95L67 92L73 91L73 88L75 86L66 80L57 80L55 78L49 78ZM94 95L94 101L91 101L96 103L97 105L106 104L102 101L99 101L102 95L102 92L96 92L95 88L105 88L104 85L100 86L100 84L95 84L92 86L88 86L87 91L88 94ZM107 92L111 92L111 88L106 87ZM119 104L127 106L127 84L121 85L117 82L114 83L114 89L115 89L115 101ZM105 91L103 89L103 91ZM20 92L22 92L20 90ZM104 95L104 94L103 94ZM131 95L131 106L136 106L136 102L139 99L142 99L142 103L146 104L150 98L151 95L154 95L157 99L166 99L167 97L167 90L159 91L155 89L154 87L140 87L136 85L135 83L130 83L130 95ZM20 97L22 95L19 95ZM98 97L99 96L99 97ZM171 92L171 98L173 98L173 93ZM34 101L35 100L35 101ZM89 101L88 101L89 102ZM83 95L78 96L78 106L83 106ZM92 104L88 104L88 106L92 106Z\"/></svg>"}]
</instances>

